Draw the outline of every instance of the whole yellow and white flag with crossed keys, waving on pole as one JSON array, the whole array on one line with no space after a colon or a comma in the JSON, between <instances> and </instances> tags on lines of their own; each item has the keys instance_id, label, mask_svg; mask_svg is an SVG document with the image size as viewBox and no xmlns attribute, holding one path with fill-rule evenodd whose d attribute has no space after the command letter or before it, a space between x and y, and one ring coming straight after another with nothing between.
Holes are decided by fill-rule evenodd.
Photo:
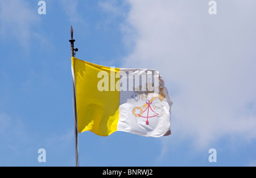
<instances>
[{"instance_id":1,"label":"whole yellow and white flag with crossed keys, waving on pole","mask_svg":"<svg viewBox=\"0 0 256 178\"><path fill-rule=\"evenodd\" d=\"M170 135L172 101L155 69L104 67L72 57L77 130Z\"/></svg>"}]
</instances>

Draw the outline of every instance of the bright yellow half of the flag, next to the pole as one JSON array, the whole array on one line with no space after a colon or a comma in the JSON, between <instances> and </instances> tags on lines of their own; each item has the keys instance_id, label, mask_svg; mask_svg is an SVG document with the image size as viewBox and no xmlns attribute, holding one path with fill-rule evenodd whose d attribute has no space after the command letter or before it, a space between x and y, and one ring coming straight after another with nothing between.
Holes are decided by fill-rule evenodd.
<instances>
[{"instance_id":1,"label":"bright yellow half of the flag, next to the pole","mask_svg":"<svg viewBox=\"0 0 256 178\"><path fill-rule=\"evenodd\" d=\"M117 131L119 119L119 92L118 90L99 91L98 84L101 78L98 73L113 72L114 76L120 71L110 71L109 67L88 63L72 57L73 77L76 87L77 127L79 133L92 131L94 134L108 136ZM114 79L114 85L118 82ZM108 88L113 84L109 82ZM112 86L111 86L112 85Z\"/></svg>"}]
</instances>

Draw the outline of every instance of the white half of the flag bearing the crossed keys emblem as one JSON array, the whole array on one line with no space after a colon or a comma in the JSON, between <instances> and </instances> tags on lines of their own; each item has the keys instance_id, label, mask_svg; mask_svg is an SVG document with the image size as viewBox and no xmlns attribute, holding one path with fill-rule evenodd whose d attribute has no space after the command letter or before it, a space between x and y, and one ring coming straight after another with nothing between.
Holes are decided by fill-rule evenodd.
<instances>
[{"instance_id":1,"label":"white half of the flag bearing the crossed keys emblem","mask_svg":"<svg viewBox=\"0 0 256 178\"><path fill-rule=\"evenodd\" d=\"M119 101L119 121L117 131L125 131L131 134L143 136L160 137L170 132L170 117L172 101L168 96L162 76L158 71L151 69L121 69L129 75L121 78L121 82L132 80L132 74L154 73L156 76L156 93L139 90L139 85L135 84L133 91L120 91ZM151 80L151 79L150 79ZM151 85L147 78L147 85ZM158 90L160 89L160 90ZM162 93L162 94L161 94ZM163 97L164 96L164 97Z\"/></svg>"}]
</instances>

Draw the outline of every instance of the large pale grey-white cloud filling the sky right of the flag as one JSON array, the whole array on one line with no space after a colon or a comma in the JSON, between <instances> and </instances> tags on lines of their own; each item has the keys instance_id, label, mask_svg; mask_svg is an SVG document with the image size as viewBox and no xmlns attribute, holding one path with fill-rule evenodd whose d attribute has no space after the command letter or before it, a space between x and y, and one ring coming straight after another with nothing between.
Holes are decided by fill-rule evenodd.
<instances>
[{"instance_id":1,"label":"large pale grey-white cloud filling the sky right of the flag","mask_svg":"<svg viewBox=\"0 0 256 178\"><path fill-rule=\"evenodd\" d=\"M204 1L128 2L124 39L133 51L123 67L163 75L173 135L196 147L227 135L255 139L256 2L218 1L215 16Z\"/></svg>"}]
</instances>

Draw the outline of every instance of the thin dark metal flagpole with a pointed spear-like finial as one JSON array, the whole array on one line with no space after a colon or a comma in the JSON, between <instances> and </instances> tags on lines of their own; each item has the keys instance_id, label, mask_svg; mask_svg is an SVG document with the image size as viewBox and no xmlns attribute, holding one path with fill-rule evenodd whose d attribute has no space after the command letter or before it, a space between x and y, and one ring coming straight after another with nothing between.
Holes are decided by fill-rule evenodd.
<instances>
[{"instance_id":1,"label":"thin dark metal flagpole with a pointed spear-like finial","mask_svg":"<svg viewBox=\"0 0 256 178\"><path fill-rule=\"evenodd\" d=\"M76 40L73 39L73 27L71 26L71 40L69 42L71 43L71 56L75 57L76 51L78 49L74 49L74 42ZM79 143L78 143L78 130L77 130L77 110L76 110L76 88L75 83L73 80L73 109L74 109L74 125L75 125L75 151L76 151L76 167L79 167Z\"/></svg>"}]
</instances>

